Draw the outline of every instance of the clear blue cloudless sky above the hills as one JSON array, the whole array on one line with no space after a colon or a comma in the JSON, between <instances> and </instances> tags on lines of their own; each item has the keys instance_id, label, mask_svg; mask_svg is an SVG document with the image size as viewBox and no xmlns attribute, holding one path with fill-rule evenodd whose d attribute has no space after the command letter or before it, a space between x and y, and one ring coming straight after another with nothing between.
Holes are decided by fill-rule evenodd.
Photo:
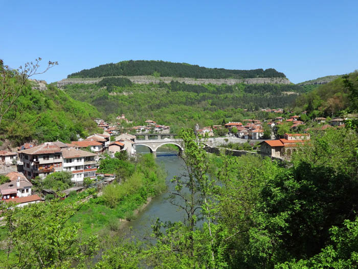
<instances>
[{"instance_id":1,"label":"clear blue cloudless sky above the hills","mask_svg":"<svg viewBox=\"0 0 358 269\"><path fill-rule=\"evenodd\" d=\"M129 59L275 68L294 83L358 69L358 1L5 1L0 58L36 77Z\"/></svg>"}]
</instances>

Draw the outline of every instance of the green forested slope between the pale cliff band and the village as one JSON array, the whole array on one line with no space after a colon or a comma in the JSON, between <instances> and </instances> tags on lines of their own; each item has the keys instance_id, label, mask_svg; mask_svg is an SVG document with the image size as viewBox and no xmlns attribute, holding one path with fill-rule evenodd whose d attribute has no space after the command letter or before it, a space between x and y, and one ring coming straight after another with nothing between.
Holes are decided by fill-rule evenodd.
<instances>
[{"instance_id":1,"label":"green forested slope between the pale cliff band and the village","mask_svg":"<svg viewBox=\"0 0 358 269\"><path fill-rule=\"evenodd\" d=\"M154 118L160 124L178 128L193 127L196 122L216 125L223 118L242 120L244 115L249 116L244 109L288 107L297 94L304 92L303 88L295 85L217 86L172 81L170 84L150 85L126 82L127 86L122 86L123 83L106 79L92 85L68 85L64 91L95 106L109 119L125 114L136 122Z\"/></svg>"}]
</instances>

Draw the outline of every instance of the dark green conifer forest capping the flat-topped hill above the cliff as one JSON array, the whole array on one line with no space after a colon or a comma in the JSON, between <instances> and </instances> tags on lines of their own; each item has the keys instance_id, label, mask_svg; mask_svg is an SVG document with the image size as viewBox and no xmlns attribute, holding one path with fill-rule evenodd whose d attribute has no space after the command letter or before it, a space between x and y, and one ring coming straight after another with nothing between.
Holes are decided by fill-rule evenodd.
<instances>
[{"instance_id":1,"label":"dark green conifer forest capping the flat-topped hill above the cliff","mask_svg":"<svg viewBox=\"0 0 358 269\"><path fill-rule=\"evenodd\" d=\"M286 77L273 68L266 70L230 70L223 68L206 68L185 63L171 63L155 60L128 60L117 64L105 64L68 75L68 78L107 77L107 76L140 76L154 75L163 77L189 78L258 78Z\"/></svg>"}]
</instances>

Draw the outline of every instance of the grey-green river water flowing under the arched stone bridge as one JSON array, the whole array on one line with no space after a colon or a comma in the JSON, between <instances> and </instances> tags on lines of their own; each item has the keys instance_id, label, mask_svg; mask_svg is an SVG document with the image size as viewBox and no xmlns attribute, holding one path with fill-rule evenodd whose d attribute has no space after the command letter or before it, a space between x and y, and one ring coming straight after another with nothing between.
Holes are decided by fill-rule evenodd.
<instances>
[{"instance_id":1,"label":"grey-green river water flowing under the arched stone bridge","mask_svg":"<svg viewBox=\"0 0 358 269\"><path fill-rule=\"evenodd\" d=\"M150 154L149 149L145 146L136 146L138 154ZM168 191L174 189L170 180L175 175L183 174L184 162L177 156L177 152L170 151L167 148L159 148L156 151L156 163L161 165L167 172L166 182ZM128 222L127 226L131 228L131 235L137 238L143 238L151 232L151 225L157 218L161 221L183 221L184 213L178 211L177 206L170 204L166 198L169 193L163 193L154 197L146 208L137 215L137 218Z\"/></svg>"}]
</instances>

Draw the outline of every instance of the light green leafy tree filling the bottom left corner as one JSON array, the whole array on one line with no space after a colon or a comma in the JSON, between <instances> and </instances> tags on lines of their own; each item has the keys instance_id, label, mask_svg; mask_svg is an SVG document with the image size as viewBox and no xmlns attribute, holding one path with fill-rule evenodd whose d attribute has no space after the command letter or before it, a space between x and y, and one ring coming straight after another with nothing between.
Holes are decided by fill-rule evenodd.
<instances>
[{"instance_id":1,"label":"light green leafy tree filling the bottom left corner","mask_svg":"<svg viewBox=\"0 0 358 269\"><path fill-rule=\"evenodd\" d=\"M8 229L8 256L2 260L2 266L64 269L76 261L78 267L84 267L88 258L97 252L98 243L97 236L83 239L80 225L69 222L81 206L82 203L55 199L8 210L8 203L0 203Z\"/></svg>"}]
</instances>

